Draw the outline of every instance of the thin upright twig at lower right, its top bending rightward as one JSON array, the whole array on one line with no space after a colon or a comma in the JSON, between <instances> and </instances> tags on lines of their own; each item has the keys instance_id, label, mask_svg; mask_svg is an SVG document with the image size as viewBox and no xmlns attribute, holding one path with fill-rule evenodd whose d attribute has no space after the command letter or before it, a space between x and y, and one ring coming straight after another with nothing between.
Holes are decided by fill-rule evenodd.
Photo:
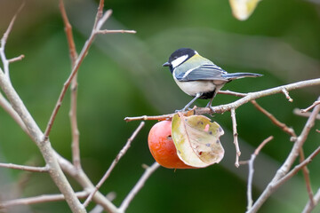
<instances>
[{"instance_id":1,"label":"thin upright twig at lower right, its top bending rightward","mask_svg":"<svg viewBox=\"0 0 320 213\"><path fill-rule=\"evenodd\" d=\"M253 168L253 162L257 155L260 153L260 150L265 146L270 140L273 139L273 136L270 136L262 141L260 146L258 146L254 153L251 155L250 160L248 161L249 165L249 175L248 175L248 186L247 186L247 200L248 200L248 205L247 205L247 210L252 208L252 179L253 179L253 173L254 173L254 168Z\"/></svg>"}]
</instances>

